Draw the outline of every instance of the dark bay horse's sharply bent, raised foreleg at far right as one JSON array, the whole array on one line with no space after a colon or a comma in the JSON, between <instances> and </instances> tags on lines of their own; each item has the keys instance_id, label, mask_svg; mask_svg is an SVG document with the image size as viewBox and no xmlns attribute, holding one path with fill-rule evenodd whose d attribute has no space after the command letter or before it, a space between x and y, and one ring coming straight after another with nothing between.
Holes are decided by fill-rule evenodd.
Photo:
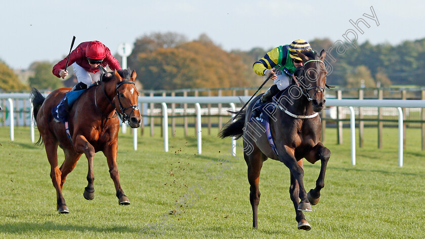
<instances>
[{"instance_id":1,"label":"dark bay horse's sharply bent, raised foreleg at far right","mask_svg":"<svg viewBox=\"0 0 425 239\"><path fill-rule=\"evenodd\" d=\"M325 186L325 173L329 157L330 150L323 146L321 142L319 142L306 157L306 160L312 164L314 164L318 160L320 160L321 162L319 177L316 180L316 187L314 189L311 189L307 194L307 197L312 205L316 205L319 203L320 190Z\"/></svg>"}]
</instances>

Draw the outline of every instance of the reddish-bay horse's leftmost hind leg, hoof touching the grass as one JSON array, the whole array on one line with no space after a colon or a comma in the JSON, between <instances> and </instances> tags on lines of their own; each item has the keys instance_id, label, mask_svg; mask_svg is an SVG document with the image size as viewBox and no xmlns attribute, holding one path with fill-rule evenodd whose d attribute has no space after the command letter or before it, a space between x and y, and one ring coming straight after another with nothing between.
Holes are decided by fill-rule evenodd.
<instances>
[{"instance_id":1,"label":"reddish-bay horse's leftmost hind leg, hoof touching the grass","mask_svg":"<svg viewBox=\"0 0 425 239\"><path fill-rule=\"evenodd\" d=\"M46 154L51 168L50 177L52 178L53 186L56 189L56 209L59 213L69 213L68 207L65 203L65 198L62 195L62 172L58 167L58 143L47 138L48 137L44 137L43 141L45 142Z\"/></svg>"}]
</instances>

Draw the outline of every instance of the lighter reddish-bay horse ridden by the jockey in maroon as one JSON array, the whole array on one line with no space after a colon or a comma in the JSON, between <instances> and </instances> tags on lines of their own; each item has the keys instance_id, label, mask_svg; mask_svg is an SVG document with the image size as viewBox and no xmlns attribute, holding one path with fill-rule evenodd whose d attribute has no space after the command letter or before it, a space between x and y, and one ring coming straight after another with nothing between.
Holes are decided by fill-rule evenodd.
<instances>
[{"instance_id":1,"label":"lighter reddish-bay horse ridden by the jockey in maroon","mask_svg":"<svg viewBox=\"0 0 425 239\"><path fill-rule=\"evenodd\" d=\"M50 93L46 98L32 88L30 97L34 106L33 117L37 123L40 138L36 144L44 143L49 160L53 186L56 189L57 210L59 213L69 213L62 187L66 176L74 169L82 153L89 162L87 187L83 196L86 200L94 198L93 157L98 151L106 156L110 176L114 182L119 205L129 205L129 198L124 194L119 183L116 165L118 149L118 131L120 116L123 123L137 128L141 124L141 114L138 109L139 91L135 86L136 71L115 70L102 76L100 85L93 86L76 99L69 110L68 138L64 123L52 115L52 108L58 105L70 88L60 88ZM65 160L58 167L58 146L65 154Z\"/></svg>"}]
</instances>

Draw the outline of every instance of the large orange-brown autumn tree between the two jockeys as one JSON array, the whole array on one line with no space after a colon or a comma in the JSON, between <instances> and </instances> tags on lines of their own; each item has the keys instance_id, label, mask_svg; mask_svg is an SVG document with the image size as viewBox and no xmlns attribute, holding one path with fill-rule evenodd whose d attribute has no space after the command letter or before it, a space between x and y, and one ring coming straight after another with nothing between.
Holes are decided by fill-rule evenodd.
<instances>
[{"instance_id":1,"label":"large orange-brown autumn tree between the two jockeys","mask_svg":"<svg viewBox=\"0 0 425 239\"><path fill-rule=\"evenodd\" d=\"M225 52L209 37L175 47L157 48L137 54L139 81L145 89L220 88L247 86L241 77L248 68L241 58ZM139 74L140 72L140 74Z\"/></svg>"}]
</instances>

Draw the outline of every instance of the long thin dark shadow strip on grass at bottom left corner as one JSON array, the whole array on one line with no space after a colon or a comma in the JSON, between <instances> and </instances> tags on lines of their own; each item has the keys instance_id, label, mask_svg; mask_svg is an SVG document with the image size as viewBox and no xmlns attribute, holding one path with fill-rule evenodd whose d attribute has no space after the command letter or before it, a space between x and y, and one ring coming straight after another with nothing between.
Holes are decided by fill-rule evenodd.
<instances>
[{"instance_id":1,"label":"long thin dark shadow strip on grass at bottom left corner","mask_svg":"<svg viewBox=\"0 0 425 239\"><path fill-rule=\"evenodd\" d=\"M134 232L139 230L126 226L95 227L82 225L58 224L54 222L34 223L34 222L16 222L0 224L0 232L4 233L23 233L23 232L43 232L51 230L61 231L94 231L94 232Z\"/></svg>"}]
</instances>

